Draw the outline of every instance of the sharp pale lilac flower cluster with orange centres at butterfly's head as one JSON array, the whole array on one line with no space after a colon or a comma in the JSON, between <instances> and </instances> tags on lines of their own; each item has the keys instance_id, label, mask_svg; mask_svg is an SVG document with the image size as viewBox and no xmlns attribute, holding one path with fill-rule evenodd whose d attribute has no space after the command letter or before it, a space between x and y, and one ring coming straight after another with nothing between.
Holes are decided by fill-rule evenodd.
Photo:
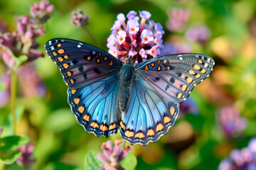
<instances>
[{"instance_id":1,"label":"sharp pale lilac flower cluster with orange centres at butterfly's head","mask_svg":"<svg viewBox=\"0 0 256 170\"><path fill-rule=\"evenodd\" d=\"M141 21L139 21L139 16ZM163 27L160 23L149 20L148 11L129 11L128 21L123 13L117 15L117 21L112 26L112 34L107 38L110 54L125 62L132 57L134 64L160 55L159 47L163 47Z\"/></svg>"}]
</instances>

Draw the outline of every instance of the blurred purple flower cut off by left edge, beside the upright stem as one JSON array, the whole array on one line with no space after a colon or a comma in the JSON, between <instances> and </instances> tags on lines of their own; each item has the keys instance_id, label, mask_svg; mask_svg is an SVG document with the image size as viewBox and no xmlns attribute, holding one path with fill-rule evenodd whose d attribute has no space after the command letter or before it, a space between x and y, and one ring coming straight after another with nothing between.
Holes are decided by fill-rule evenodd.
<instances>
[{"instance_id":1,"label":"blurred purple flower cut off by left edge, beside the upright stem","mask_svg":"<svg viewBox=\"0 0 256 170\"><path fill-rule=\"evenodd\" d=\"M0 108L3 108L9 102L9 98L10 98L10 88L11 88L10 77L6 75L2 75L0 77L0 84L1 86L4 86L4 88L0 90Z\"/></svg>"}]
</instances>

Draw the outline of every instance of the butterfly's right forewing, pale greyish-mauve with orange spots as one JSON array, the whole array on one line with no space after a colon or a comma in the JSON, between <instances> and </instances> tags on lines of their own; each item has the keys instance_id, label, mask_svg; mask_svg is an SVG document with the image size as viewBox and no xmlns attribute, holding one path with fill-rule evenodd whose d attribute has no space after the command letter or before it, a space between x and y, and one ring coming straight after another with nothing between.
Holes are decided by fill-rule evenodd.
<instances>
[{"instance_id":1,"label":"butterfly's right forewing, pale greyish-mauve with orange spots","mask_svg":"<svg viewBox=\"0 0 256 170\"><path fill-rule=\"evenodd\" d=\"M156 91L174 103L188 98L196 84L213 70L211 57L196 53L166 55L137 65L136 74L143 77Z\"/></svg>"}]
</instances>

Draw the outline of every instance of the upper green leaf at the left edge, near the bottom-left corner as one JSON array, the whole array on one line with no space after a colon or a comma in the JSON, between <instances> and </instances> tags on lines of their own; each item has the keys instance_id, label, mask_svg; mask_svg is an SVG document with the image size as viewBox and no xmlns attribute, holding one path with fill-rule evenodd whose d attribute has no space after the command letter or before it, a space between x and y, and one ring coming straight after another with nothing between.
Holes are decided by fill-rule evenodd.
<instances>
[{"instance_id":1,"label":"upper green leaf at the left edge, near the bottom-left corner","mask_svg":"<svg viewBox=\"0 0 256 170\"><path fill-rule=\"evenodd\" d=\"M0 140L0 151L9 151L18 149L22 145L29 142L29 137L26 136L9 136L3 137Z\"/></svg>"}]
</instances>

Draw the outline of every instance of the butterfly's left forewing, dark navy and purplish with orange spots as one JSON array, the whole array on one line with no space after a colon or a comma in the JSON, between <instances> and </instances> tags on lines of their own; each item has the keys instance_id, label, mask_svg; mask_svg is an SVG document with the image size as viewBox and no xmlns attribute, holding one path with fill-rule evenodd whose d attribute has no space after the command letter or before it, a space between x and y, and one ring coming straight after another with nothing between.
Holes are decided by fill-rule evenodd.
<instances>
[{"instance_id":1,"label":"butterfly's left forewing, dark navy and purplish with orange spots","mask_svg":"<svg viewBox=\"0 0 256 170\"><path fill-rule=\"evenodd\" d=\"M77 40L48 40L46 52L60 68L65 83L72 89L105 78L112 72L118 72L122 66L108 52Z\"/></svg>"}]
</instances>

